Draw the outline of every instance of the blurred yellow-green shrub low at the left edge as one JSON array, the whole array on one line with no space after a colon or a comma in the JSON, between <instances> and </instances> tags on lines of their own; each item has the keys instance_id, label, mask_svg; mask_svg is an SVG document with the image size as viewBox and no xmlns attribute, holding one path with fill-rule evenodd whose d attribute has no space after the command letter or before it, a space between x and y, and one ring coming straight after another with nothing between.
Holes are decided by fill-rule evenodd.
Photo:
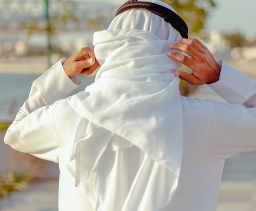
<instances>
[{"instance_id":1,"label":"blurred yellow-green shrub low at the left edge","mask_svg":"<svg viewBox=\"0 0 256 211\"><path fill-rule=\"evenodd\" d=\"M12 192L26 189L26 180L27 177L25 175L18 176L12 171L6 174L0 173L0 199L8 197Z\"/></svg>"}]
</instances>

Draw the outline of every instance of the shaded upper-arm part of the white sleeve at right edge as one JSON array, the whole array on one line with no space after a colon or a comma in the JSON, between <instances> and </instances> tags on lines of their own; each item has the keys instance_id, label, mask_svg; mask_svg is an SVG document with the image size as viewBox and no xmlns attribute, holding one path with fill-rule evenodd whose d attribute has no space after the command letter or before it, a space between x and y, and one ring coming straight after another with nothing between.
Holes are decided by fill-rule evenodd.
<instances>
[{"instance_id":1,"label":"shaded upper-arm part of the white sleeve at right edge","mask_svg":"<svg viewBox=\"0 0 256 211\"><path fill-rule=\"evenodd\" d=\"M256 149L256 108L213 101L216 146L221 158Z\"/></svg>"}]
</instances>

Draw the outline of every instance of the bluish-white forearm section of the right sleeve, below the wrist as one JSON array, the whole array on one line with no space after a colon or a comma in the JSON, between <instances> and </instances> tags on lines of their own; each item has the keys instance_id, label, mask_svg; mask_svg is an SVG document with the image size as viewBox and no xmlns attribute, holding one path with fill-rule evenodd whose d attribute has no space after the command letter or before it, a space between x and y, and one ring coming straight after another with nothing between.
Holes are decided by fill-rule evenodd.
<instances>
[{"instance_id":1,"label":"bluish-white forearm section of the right sleeve, below the wrist","mask_svg":"<svg viewBox=\"0 0 256 211\"><path fill-rule=\"evenodd\" d=\"M228 103L256 107L256 83L225 62L220 80L208 86Z\"/></svg>"}]
</instances>

